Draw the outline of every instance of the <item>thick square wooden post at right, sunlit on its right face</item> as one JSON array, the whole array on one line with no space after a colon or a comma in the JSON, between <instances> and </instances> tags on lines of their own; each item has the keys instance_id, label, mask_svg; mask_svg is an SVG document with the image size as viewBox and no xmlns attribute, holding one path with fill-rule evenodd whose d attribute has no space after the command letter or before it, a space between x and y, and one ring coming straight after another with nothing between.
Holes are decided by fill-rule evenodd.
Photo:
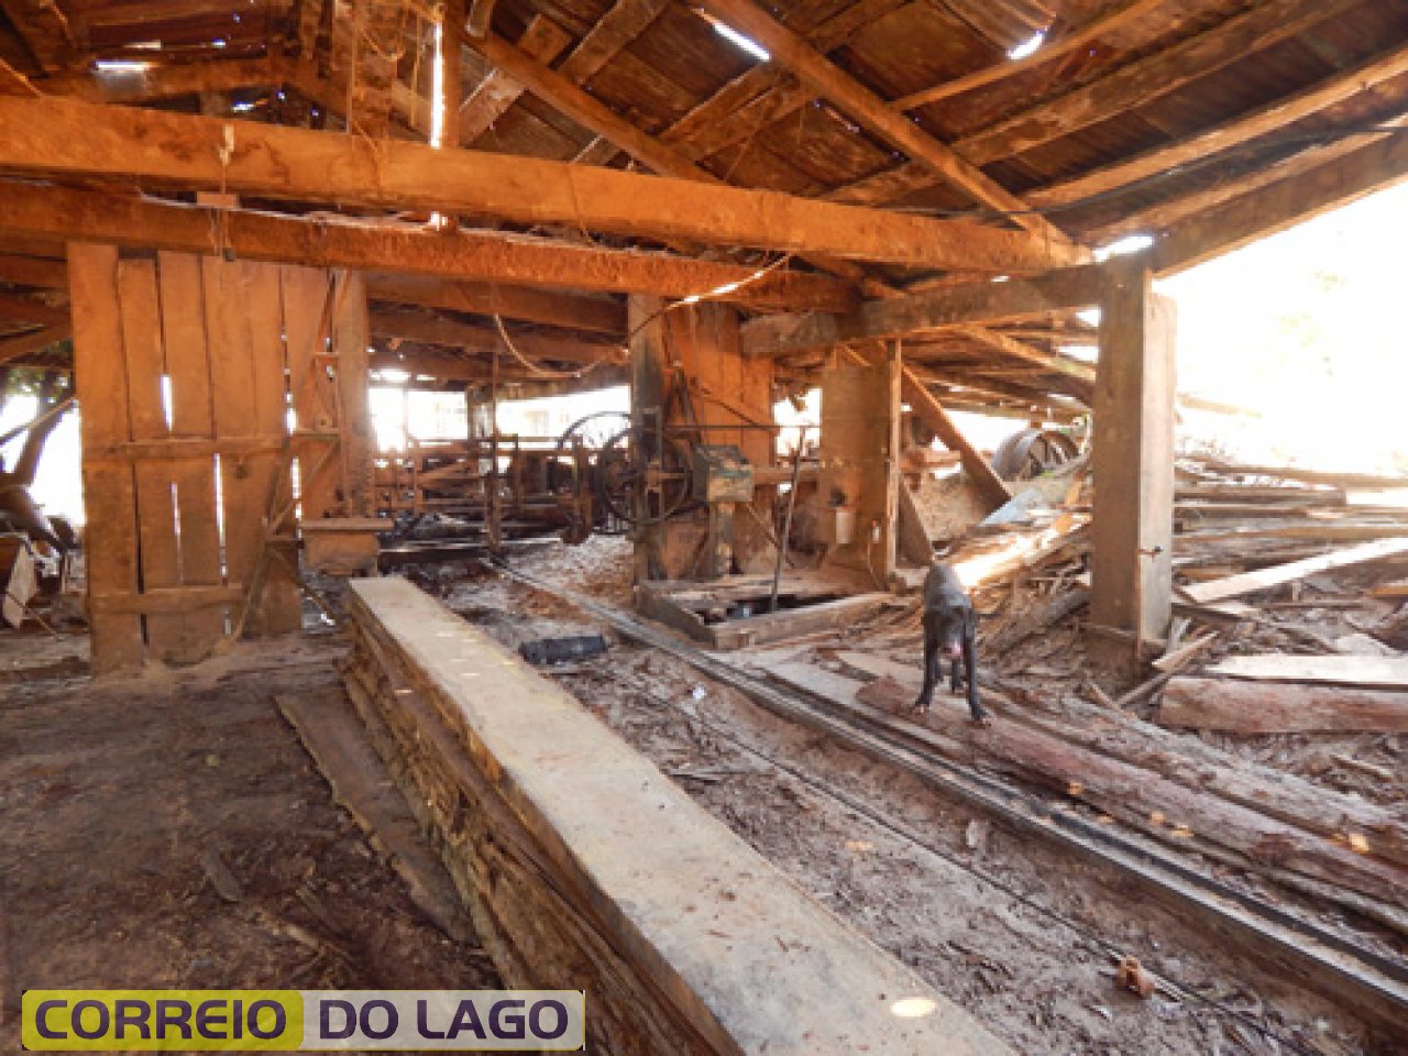
<instances>
[{"instance_id":1,"label":"thick square wooden post at right, sunlit on its right face","mask_svg":"<svg viewBox=\"0 0 1408 1056\"><path fill-rule=\"evenodd\" d=\"M1174 306L1148 262L1110 265L1094 400L1091 628L1133 660L1173 612Z\"/></svg>"}]
</instances>

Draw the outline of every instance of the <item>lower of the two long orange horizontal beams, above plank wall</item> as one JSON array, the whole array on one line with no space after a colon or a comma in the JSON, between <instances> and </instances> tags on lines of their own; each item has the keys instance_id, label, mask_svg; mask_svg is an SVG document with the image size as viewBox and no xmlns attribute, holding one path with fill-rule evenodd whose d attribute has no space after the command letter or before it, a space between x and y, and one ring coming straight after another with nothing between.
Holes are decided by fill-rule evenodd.
<instances>
[{"instance_id":1,"label":"lower of the two long orange horizontal beams, above plank wall","mask_svg":"<svg viewBox=\"0 0 1408 1056\"><path fill-rule=\"evenodd\" d=\"M221 245L237 256L320 268L404 273L689 297L738 283L718 300L756 306L808 301L842 308L855 303L842 283L819 275L774 270L749 283L750 268L566 245L518 235L455 234L384 224L315 222L248 210L214 210L94 191L0 182L0 232L70 237L84 242L211 255ZM221 244L211 241L215 232Z\"/></svg>"}]
</instances>

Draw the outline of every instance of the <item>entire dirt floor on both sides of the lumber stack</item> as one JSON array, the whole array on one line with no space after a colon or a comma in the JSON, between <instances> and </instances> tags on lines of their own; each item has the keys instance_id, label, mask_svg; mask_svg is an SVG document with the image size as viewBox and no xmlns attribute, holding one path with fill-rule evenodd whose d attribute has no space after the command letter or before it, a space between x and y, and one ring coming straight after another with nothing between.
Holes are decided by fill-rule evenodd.
<instances>
[{"instance_id":1,"label":"entire dirt floor on both sides of the lumber stack","mask_svg":"<svg viewBox=\"0 0 1408 1056\"><path fill-rule=\"evenodd\" d=\"M629 605L621 539L522 560ZM508 645L600 629L490 572L411 577ZM1064 634L1029 642L1022 663L1049 665L1041 677L1076 691ZM901 638L884 639L895 659ZM31 986L496 984L482 950L431 925L332 803L275 705L335 684L344 648L334 634L252 643L184 672L93 683L82 638L0 635L0 1050L18 1050L13 1012ZM1018 1052L1402 1050L1118 873L783 722L683 662L614 641L553 677ZM1294 748L1256 750L1290 752L1304 770ZM1338 748L1393 759L1398 745ZM1149 1000L1118 990L1122 955L1174 986Z\"/></svg>"}]
</instances>

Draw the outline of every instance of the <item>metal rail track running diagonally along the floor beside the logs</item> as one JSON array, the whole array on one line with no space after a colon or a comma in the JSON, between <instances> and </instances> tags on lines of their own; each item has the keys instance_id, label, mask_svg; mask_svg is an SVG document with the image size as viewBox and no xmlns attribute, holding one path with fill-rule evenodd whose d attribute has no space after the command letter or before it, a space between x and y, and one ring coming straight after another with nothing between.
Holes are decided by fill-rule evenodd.
<instances>
[{"instance_id":1,"label":"metal rail track running diagonally along the floor beside the logs","mask_svg":"<svg viewBox=\"0 0 1408 1056\"><path fill-rule=\"evenodd\" d=\"M1125 872L1214 922L1260 943L1283 963L1294 964L1298 981L1314 986L1316 980L1325 980L1333 984L1333 995L1356 998L1364 1011L1377 1012L1384 1024L1400 1028L1408 1025L1408 966L1404 963L1224 884L1173 852L1133 841L1111 826L1094 824L1074 811L945 759L862 714L838 708L824 697L794 689L783 691L611 605L501 563L496 567L510 579L552 594L610 624L625 638L689 663L710 679L743 693L774 715L828 734L849 748L891 763L1014 828L1053 839Z\"/></svg>"}]
</instances>

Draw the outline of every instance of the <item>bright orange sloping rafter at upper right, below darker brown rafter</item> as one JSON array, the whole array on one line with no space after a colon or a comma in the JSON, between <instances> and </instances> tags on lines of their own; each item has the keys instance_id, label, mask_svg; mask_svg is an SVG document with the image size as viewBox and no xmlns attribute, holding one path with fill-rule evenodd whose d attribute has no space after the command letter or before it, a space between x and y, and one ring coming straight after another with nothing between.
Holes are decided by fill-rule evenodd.
<instances>
[{"instance_id":1,"label":"bright orange sloping rafter at upper right, below darker brown rafter","mask_svg":"<svg viewBox=\"0 0 1408 1056\"><path fill-rule=\"evenodd\" d=\"M1215 128L1186 137L1167 146L1146 151L1138 158L1115 162L1083 176L1042 187L1028 197L1038 206L1062 206L1094 197L1114 187L1122 187L1250 142L1404 73L1408 73L1408 46L1394 48L1353 69L1326 77L1288 99L1278 99Z\"/></svg>"}]
</instances>

